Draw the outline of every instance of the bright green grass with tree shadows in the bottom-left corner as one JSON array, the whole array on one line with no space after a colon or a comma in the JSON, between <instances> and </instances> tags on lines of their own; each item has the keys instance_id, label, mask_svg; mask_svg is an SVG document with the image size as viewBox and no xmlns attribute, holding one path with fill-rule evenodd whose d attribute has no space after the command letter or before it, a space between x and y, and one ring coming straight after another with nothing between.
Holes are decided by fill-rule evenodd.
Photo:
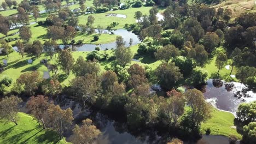
<instances>
[{"instance_id":1,"label":"bright green grass with tree shadows in the bottom-left corner","mask_svg":"<svg viewBox=\"0 0 256 144\"><path fill-rule=\"evenodd\" d=\"M40 127L30 115L19 112L18 116L18 125L0 122L0 143L68 143L65 138L60 140L54 130Z\"/></svg>"}]
</instances>

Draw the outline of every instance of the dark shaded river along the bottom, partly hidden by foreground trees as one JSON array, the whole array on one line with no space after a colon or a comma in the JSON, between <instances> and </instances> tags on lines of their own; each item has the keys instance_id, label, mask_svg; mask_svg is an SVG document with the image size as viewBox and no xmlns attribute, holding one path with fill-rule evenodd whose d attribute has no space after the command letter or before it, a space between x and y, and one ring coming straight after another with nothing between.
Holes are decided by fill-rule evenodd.
<instances>
[{"instance_id":1,"label":"dark shaded river along the bottom, partly hidden by foreground trees","mask_svg":"<svg viewBox=\"0 0 256 144\"><path fill-rule=\"evenodd\" d=\"M126 124L124 122L117 122L114 119L108 117L104 113L96 110L92 110L89 107L83 108L78 103L71 99L61 97L60 102L55 101L55 104L59 104L62 109L70 107L73 110L73 126L74 124L81 124L83 119L90 118L98 129L101 130L101 136L98 137L96 143L98 144L120 144L120 143L134 143L134 144L151 144L151 143L166 143L167 137L159 136L155 131L143 131L138 135L132 135L127 131ZM21 112L28 113L26 102L21 107ZM72 134L72 128L65 132L67 141L70 141ZM229 139L225 136L203 135L202 139L209 144L228 144ZM184 142L195 143L195 142Z\"/></svg>"}]
</instances>

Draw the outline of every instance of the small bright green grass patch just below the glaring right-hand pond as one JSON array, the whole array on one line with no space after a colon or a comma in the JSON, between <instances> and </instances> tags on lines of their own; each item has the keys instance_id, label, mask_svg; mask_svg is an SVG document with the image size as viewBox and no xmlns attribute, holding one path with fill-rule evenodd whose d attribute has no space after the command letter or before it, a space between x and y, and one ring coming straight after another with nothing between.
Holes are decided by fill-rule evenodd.
<instances>
[{"instance_id":1,"label":"small bright green grass patch just below the glaring right-hand pond","mask_svg":"<svg viewBox=\"0 0 256 144\"><path fill-rule=\"evenodd\" d=\"M235 135L238 139L242 139L242 135L238 134L234 127L235 116L232 113L213 109L212 117L201 125L201 131L205 134L205 130L211 129L211 135L230 136Z\"/></svg>"}]
</instances>

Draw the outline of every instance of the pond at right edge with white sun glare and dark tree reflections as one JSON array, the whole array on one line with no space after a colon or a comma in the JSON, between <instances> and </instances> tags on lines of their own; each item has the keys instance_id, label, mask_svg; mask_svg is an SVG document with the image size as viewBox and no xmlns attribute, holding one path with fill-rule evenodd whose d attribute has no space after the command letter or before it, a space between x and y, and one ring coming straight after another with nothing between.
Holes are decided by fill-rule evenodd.
<instances>
[{"instance_id":1,"label":"pond at right edge with white sun glare and dark tree reflections","mask_svg":"<svg viewBox=\"0 0 256 144\"><path fill-rule=\"evenodd\" d=\"M237 107L243 102L256 100L256 93L248 91L247 87L238 82L207 80L207 85L201 89L205 98L220 110L236 113Z\"/></svg>"}]
</instances>

